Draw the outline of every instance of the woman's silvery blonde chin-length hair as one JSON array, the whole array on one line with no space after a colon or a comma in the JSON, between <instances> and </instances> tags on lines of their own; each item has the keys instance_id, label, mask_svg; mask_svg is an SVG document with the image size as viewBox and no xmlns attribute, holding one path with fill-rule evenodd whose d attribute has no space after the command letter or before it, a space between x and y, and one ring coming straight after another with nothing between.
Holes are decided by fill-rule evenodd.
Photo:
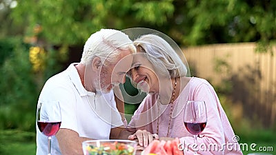
<instances>
[{"instance_id":1,"label":"woman's silvery blonde chin-length hair","mask_svg":"<svg viewBox=\"0 0 276 155\"><path fill-rule=\"evenodd\" d=\"M187 68L170 44L155 34L145 34L134 41L137 51L146 53L155 71L170 78L186 76ZM164 67L166 70L164 70Z\"/></svg>"}]
</instances>

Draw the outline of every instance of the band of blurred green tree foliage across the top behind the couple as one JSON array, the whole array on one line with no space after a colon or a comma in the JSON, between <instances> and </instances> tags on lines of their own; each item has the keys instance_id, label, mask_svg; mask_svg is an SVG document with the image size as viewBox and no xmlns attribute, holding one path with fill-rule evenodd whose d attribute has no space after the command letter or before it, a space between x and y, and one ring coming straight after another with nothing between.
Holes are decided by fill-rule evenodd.
<instances>
[{"instance_id":1,"label":"band of blurred green tree foliage across the top behind the couple","mask_svg":"<svg viewBox=\"0 0 276 155\"><path fill-rule=\"evenodd\" d=\"M26 35L42 26L41 39L79 45L99 28L147 27L168 34L179 45L275 42L276 3L254 0L92 0L17 1L14 21L28 23ZM264 49L263 49L264 50Z\"/></svg>"}]
</instances>

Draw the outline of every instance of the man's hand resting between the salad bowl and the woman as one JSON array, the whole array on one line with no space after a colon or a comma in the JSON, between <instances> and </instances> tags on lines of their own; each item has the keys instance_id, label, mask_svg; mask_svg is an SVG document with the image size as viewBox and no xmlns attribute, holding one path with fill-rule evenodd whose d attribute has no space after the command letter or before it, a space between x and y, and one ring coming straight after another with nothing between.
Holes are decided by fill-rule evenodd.
<instances>
[{"instance_id":1,"label":"man's hand resting between the salad bowl and the woman","mask_svg":"<svg viewBox=\"0 0 276 155\"><path fill-rule=\"evenodd\" d=\"M137 130L135 134L128 136L129 140L137 139L140 146L147 147L149 143L153 141L153 139L159 139L157 134L151 134L146 130Z\"/></svg>"}]
</instances>

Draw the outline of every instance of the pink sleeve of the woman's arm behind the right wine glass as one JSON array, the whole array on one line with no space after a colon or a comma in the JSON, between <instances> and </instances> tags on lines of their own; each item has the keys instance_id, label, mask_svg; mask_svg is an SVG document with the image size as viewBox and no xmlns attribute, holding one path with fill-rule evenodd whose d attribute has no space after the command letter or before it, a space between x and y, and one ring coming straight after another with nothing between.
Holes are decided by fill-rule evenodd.
<instances>
[{"instance_id":1,"label":"pink sleeve of the woman's arm behind the right wine glass","mask_svg":"<svg viewBox=\"0 0 276 155\"><path fill-rule=\"evenodd\" d=\"M207 110L207 124L203 132L197 137L197 149L199 154L221 154L217 152L217 149L223 147L224 141L224 129L220 117L219 99L213 87L208 83L201 83L194 90L193 96L190 100L205 101ZM192 136L186 136L180 138L182 145L184 146L184 154L193 154L194 138ZM208 148L217 147L217 149Z\"/></svg>"}]
</instances>

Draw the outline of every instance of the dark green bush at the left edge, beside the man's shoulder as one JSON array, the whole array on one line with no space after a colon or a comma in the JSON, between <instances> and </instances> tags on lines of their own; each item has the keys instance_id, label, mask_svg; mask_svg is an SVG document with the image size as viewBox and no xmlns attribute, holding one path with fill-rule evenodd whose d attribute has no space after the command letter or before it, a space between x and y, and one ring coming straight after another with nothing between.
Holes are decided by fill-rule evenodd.
<instances>
[{"instance_id":1,"label":"dark green bush at the left edge, beside the man's shoulder","mask_svg":"<svg viewBox=\"0 0 276 155\"><path fill-rule=\"evenodd\" d=\"M28 45L19 39L10 42L10 56L1 65L0 72L0 128L31 130L35 121L37 91L32 76L32 65L28 61ZM9 44L8 44L9 45ZM31 113L33 112L33 113Z\"/></svg>"}]
</instances>

